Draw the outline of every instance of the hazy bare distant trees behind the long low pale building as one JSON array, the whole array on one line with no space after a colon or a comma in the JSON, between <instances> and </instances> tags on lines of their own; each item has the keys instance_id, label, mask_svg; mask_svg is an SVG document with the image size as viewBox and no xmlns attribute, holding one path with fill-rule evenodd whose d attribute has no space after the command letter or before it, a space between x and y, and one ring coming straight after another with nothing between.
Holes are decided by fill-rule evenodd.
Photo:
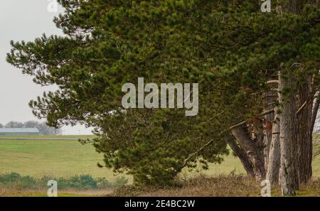
<instances>
[{"instance_id":1,"label":"hazy bare distant trees behind the long low pale building","mask_svg":"<svg viewBox=\"0 0 320 211\"><path fill-rule=\"evenodd\" d=\"M61 129L56 129L53 126L48 126L45 121L9 121L7 124L3 125L0 124L0 128L37 128L40 131L41 135L55 135L55 134L62 134Z\"/></svg>"}]
</instances>

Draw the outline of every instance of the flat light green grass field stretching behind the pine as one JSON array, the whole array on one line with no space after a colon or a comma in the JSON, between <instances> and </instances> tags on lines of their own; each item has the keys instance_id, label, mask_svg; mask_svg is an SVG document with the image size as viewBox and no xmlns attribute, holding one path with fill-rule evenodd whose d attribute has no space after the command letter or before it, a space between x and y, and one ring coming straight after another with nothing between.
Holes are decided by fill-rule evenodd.
<instances>
[{"instance_id":1,"label":"flat light green grass field stretching behind the pine","mask_svg":"<svg viewBox=\"0 0 320 211\"><path fill-rule=\"evenodd\" d=\"M90 136L60 137L90 138ZM17 141L0 138L0 173L16 172L35 177L43 175L70 177L90 174L93 177L105 177L109 180L121 176L114 175L110 169L97 167L98 162L103 163L102 154L97 153L92 145L82 145L78 141ZM313 168L314 176L320 177L320 158L314 159ZM221 164L210 164L209 170L202 173L219 175L229 174L232 171L245 173L238 158L230 155L226 156ZM186 172L183 174L190 175ZM129 180L131 180L130 177Z\"/></svg>"}]
</instances>

